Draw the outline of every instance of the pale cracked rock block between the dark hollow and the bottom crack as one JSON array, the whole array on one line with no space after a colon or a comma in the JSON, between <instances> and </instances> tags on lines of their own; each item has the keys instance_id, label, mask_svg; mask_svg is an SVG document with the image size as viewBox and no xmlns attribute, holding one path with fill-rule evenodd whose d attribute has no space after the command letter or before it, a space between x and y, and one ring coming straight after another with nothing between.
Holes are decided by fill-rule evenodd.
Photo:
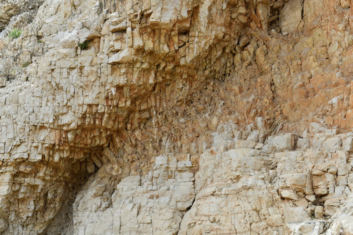
<instances>
[{"instance_id":1,"label":"pale cracked rock block between the dark hollow and the bottom crack","mask_svg":"<svg viewBox=\"0 0 353 235\"><path fill-rule=\"evenodd\" d=\"M104 165L77 194L73 233L177 233L184 211L195 197L192 163L188 158L158 156L148 175L128 176L118 183L119 166Z\"/></svg>"}]
</instances>

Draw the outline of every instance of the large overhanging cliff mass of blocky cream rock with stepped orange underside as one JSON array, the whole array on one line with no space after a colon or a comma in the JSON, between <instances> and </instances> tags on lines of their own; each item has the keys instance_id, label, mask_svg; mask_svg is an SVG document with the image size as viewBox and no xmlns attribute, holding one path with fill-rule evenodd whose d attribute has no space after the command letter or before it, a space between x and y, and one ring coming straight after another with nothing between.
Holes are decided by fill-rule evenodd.
<instances>
[{"instance_id":1,"label":"large overhanging cliff mass of blocky cream rock with stepped orange underside","mask_svg":"<svg viewBox=\"0 0 353 235\"><path fill-rule=\"evenodd\" d=\"M167 107L162 97L179 97L178 106L185 107L200 82L225 72L223 62L228 61L229 70L226 51L234 48L244 23L225 15L245 5L154 4L126 1L109 8L109 2L48 0L18 40L5 39L13 46L4 50L6 54L21 45L19 63L32 64L22 82L8 81L2 91L0 142L6 181L1 185L1 214L9 224L4 231L41 234L66 200L66 190L79 187L104 164L123 163L125 177L141 171L138 158L156 155L160 141L162 152L177 150L170 139L153 141L156 135L162 137L154 131L147 134L151 141L146 148L135 148L146 140L137 128ZM219 26L213 27L213 22ZM77 46L86 40L86 50ZM135 137L126 131L136 131ZM197 153L196 137L191 139L195 150L188 140L180 148ZM137 165L130 168L128 161ZM145 172L151 162L142 161ZM14 169L20 173L14 174ZM22 181L25 174L32 177ZM49 182L58 185L50 189ZM10 198L18 204L10 204ZM177 200L178 209L185 210L186 204ZM13 213L9 216L8 211Z\"/></svg>"}]
</instances>

